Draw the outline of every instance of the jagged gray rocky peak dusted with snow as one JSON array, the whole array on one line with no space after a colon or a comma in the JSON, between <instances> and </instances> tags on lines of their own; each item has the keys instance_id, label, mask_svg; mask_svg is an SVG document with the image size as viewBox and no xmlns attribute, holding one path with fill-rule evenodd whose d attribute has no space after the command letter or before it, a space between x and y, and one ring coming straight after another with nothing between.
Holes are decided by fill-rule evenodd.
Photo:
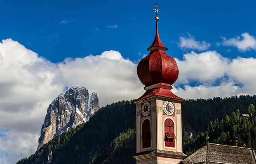
<instances>
[{"instance_id":1,"label":"jagged gray rocky peak dusted with snow","mask_svg":"<svg viewBox=\"0 0 256 164\"><path fill-rule=\"evenodd\" d=\"M59 94L47 109L38 139L38 150L57 135L89 121L98 109L97 94L93 92L89 97L85 87L72 86L65 93Z\"/></svg>"}]
</instances>

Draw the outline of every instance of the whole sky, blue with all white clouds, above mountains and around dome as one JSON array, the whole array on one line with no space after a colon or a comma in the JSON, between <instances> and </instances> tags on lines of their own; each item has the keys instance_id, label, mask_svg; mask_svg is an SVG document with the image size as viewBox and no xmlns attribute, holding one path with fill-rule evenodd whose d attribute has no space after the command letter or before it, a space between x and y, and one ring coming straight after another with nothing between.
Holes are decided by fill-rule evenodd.
<instances>
[{"instance_id":1,"label":"whole sky, blue with all white clouds, above mountains and around dome","mask_svg":"<svg viewBox=\"0 0 256 164\"><path fill-rule=\"evenodd\" d=\"M256 94L255 0L157 2L160 38L179 68L173 93ZM0 163L35 152L47 107L72 85L96 92L101 107L144 93L136 67L155 36L154 7L0 0Z\"/></svg>"}]
</instances>

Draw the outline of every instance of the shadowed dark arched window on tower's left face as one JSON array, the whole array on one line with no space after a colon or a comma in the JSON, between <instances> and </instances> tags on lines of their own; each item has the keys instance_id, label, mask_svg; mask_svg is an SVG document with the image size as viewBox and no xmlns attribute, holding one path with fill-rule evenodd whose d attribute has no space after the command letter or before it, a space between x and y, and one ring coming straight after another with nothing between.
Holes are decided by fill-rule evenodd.
<instances>
[{"instance_id":1,"label":"shadowed dark arched window on tower's left face","mask_svg":"<svg viewBox=\"0 0 256 164\"><path fill-rule=\"evenodd\" d=\"M146 119L142 123L142 148L149 148L151 146L151 132L150 132L150 121Z\"/></svg>"}]
</instances>

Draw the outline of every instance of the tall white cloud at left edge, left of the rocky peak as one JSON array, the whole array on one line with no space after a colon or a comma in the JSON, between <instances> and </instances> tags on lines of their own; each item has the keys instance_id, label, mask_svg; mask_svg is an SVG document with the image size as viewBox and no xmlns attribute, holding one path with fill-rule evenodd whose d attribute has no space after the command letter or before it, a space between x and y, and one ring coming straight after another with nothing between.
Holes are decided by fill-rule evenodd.
<instances>
[{"instance_id":1,"label":"tall white cloud at left edge, left of the rocky peak","mask_svg":"<svg viewBox=\"0 0 256 164\"><path fill-rule=\"evenodd\" d=\"M0 42L0 156L13 164L36 150L51 100L63 86L54 84L57 66L12 39Z\"/></svg>"}]
</instances>

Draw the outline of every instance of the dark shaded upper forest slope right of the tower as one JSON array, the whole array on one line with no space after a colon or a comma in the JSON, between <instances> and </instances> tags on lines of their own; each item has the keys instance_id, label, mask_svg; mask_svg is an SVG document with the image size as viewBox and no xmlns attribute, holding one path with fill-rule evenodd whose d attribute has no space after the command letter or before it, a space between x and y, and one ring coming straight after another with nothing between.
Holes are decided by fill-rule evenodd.
<instances>
[{"instance_id":1,"label":"dark shaded upper forest slope right of the tower","mask_svg":"<svg viewBox=\"0 0 256 164\"><path fill-rule=\"evenodd\" d=\"M237 109L241 114L247 114L250 104L256 105L256 95L187 100L182 103L183 129L189 132L205 131L209 121L221 120Z\"/></svg>"}]
</instances>

